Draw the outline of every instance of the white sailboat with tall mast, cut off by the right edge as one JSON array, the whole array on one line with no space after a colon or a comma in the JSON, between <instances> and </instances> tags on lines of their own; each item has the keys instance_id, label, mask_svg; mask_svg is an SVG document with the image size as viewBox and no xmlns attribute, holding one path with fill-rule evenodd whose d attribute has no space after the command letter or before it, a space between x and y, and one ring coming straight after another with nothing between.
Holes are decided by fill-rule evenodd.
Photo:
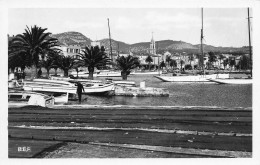
<instances>
[{"instance_id":1,"label":"white sailboat with tall mast, cut off by the right edge","mask_svg":"<svg viewBox=\"0 0 260 165\"><path fill-rule=\"evenodd\" d=\"M247 9L248 13L248 35L249 35L249 55L250 55L250 62L252 59L252 48L251 48L251 35L250 35L250 17L249 17L249 8ZM218 84L252 84L253 79L252 79L252 66L250 67L250 76L248 78L223 78L223 79L208 79L211 82L215 82Z\"/></svg>"}]
</instances>

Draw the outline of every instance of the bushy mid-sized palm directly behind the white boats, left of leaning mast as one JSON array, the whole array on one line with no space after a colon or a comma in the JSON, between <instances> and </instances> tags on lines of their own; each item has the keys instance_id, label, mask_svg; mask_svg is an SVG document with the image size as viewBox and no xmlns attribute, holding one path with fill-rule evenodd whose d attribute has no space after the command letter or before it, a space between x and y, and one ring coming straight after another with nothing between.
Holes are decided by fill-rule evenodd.
<instances>
[{"instance_id":1,"label":"bushy mid-sized palm directly behind the white boats, left of leaning mast","mask_svg":"<svg viewBox=\"0 0 260 165\"><path fill-rule=\"evenodd\" d=\"M105 48L102 46L101 49L98 46L88 47L79 54L79 57L84 62L84 65L88 67L89 78L93 79L93 73L95 67L104 66L109 64L111 59L105 53Z\"/></svg>"}]
</instances>

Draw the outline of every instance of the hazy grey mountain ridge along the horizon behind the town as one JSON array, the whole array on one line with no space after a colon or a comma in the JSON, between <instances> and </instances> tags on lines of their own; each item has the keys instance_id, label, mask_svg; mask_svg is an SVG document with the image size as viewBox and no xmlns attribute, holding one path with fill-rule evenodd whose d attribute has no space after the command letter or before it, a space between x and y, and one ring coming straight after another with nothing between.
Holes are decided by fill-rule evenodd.
<instances>
[{"instance_id":1,"label":"hazy grey mountain ridge along the horizon behind the town","mask_svg":"<svg viewBox=\"0 0 260 165\"><path fill-rule=\"evenodd\" d=\"M79 32L64 32L59 34L51 35L54 38L57 38L60 43L65 45L80 45L87 46L91 45L92 40L82 33ZM108 38L98 40L102 46L106 49L110 49L110 42ZM148 52L150 47L150 42L139 42L135 44L127 44L122 41L116 41L111 39L112 49L119 51L121 53L143 53ZM170 51L170 52L187 52L187 53L198 53L200 51L200 44L192 45L190 43L184 41L174 41L174 40L161 40L156 41L156 49L159 52ZM203 49L205 52L214 51L214 52L247 52L246 47L215 47L212 45L203 45Z\"/></svg>"}]
</instances>

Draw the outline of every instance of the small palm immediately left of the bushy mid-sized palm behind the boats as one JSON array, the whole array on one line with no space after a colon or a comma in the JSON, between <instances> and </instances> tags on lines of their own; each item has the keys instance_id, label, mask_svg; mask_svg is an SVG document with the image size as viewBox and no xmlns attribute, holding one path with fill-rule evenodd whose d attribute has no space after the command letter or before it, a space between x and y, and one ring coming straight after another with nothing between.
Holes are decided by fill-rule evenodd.
<instances>
[{"instance_id":1,"label":"small palm immediately left of the bushy mid-sized palm behind the boats","mask_svg":"<svg viewBox=\"0 0 260 165\"><path fill-rule=\"evenodd\" d=\"M69 70L75 65L75 59L71 56L61 55L59 57L58 66L64 71L64 77L68 77Z\"/></svg>"}]
</instances>

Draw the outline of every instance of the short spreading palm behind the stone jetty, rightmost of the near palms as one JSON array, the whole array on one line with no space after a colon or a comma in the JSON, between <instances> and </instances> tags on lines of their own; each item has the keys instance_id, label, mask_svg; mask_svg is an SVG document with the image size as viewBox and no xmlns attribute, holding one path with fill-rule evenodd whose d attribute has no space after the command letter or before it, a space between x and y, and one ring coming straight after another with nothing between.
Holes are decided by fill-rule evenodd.
<instances>
[{"instance_id":1,"label":"short spreading palm behind the stone jetty, rightmost of the near palms","mask_svg":"<svg viewBox=\"0 0 260 165\"><path fill-rule=\"evenodd\" d=\"M137 68L140 65L138 57L128 55L127 57L121 56L116 59L116 67L121 70L121 76L123 80L127 80L127 76L131 73L132 69Z\"/></svg>"}]
</instances>

